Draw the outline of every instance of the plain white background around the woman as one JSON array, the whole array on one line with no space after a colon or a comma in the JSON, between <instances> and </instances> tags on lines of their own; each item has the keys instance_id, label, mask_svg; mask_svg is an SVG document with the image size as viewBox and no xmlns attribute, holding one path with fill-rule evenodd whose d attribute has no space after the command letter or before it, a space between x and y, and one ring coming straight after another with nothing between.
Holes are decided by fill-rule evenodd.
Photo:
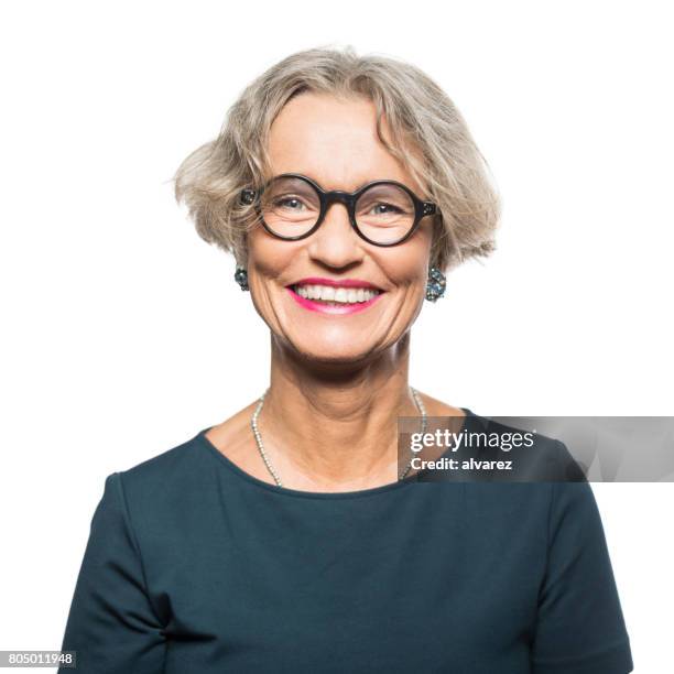
<instances>
[{"instance_id":1,"label":"plain white background around the woman","mask_svg":"<svg viewBox=\"0 0 674 674\"><path fill-rule=\"evenodd\" d=\"M351 44L422 67L503 196L498 252L422 312L413 385L487 415L674 414L665 9L3 3L0 650L61 648L107 475L265 388L267 328L171 177L291 52ZM594 490L634 671L660 674L673 487Z\"/></svg>"}]
</instances>

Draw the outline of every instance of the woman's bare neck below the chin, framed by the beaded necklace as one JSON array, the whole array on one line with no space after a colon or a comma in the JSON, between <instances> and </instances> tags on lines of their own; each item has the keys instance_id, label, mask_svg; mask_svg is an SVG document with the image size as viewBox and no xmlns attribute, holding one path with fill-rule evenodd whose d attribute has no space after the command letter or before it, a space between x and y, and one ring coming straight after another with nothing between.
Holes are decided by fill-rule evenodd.
<instances>
[{"instance_id":1,"label":"woman's bare neck below the chin, framed by the beaded necklace","mask_svg":"<svg viewBox=\"0 0 674 674\"><path fill-rule=\"evenodd\" d=\"M284 486L367 489L398 477L398 416L418 414L407 383L409 334L345 369L302 359L272 337L259 427Z\"/></svg>"}]
</instances>

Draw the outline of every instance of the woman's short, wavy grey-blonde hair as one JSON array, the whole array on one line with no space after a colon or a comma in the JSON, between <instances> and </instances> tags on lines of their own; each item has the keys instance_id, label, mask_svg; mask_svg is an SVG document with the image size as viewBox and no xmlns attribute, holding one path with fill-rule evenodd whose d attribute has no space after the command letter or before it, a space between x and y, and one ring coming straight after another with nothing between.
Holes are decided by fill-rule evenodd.
<instances>
[{"instance_id":1,"label":"woman's short, wavy grey-blonde hair","mask_svg":"<svg viewBox=\"0 0 674 674\"><path fill-rule=\"evenodd\" d=\"M246 262L246 233L257 217L240 193L271 177L270 128L302 91L373 101L380 141L438 206L432 264L446 270L494 249L500 199L454 102L417 67L384 56L358 56L350 46L297 52L270 67L229 108L219 135L183 161L174 177L175 196L187 205L205 241ZM391 143L382 134L382 116Z\"/></svg>"}]
</instances>

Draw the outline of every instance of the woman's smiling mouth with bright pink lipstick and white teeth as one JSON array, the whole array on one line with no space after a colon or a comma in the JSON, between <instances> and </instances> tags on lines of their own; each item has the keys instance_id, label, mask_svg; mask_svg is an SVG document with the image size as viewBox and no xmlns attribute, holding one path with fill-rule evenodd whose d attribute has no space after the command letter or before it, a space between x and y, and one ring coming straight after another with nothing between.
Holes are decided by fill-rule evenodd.
<instances>
[{"instance_id":1,"label":"woman's smiling mouth with bright pink lipstick and white teeth","mask_svg":"<svg viewBox=\"0 0 674 674\"><path fill-rule=\"evenodd\" d=\"M287 291L304 308L326 314L361 312L382 295L380 289L356 280L305 279L289 285Z\"/></svg>"}]
</instances>

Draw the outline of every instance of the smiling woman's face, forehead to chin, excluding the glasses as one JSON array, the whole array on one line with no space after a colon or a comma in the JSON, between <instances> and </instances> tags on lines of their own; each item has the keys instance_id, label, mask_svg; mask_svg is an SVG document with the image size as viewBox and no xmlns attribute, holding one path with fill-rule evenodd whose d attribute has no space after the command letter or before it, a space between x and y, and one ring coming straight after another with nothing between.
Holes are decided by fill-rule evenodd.
<instances>
[{"instance_id":1,"label":"smiling woman's face, forehead to chin, excluding the glasses","mask_svg":"<svg viewBox=\"0 0 674 674\"><path fill-rule=\"evenodd\" d=\"M376 119L365 98L294 97L270 131L273 175L298 173L346 192L392 180L427 198L379 141ZM262 227L248 235L251 296L280 346L322 362L367 361L399 344L418 315L431 242L427 217L399 246L368 243L333 204L305 239L284 241Z\"/></svg>"}]
</instances>

